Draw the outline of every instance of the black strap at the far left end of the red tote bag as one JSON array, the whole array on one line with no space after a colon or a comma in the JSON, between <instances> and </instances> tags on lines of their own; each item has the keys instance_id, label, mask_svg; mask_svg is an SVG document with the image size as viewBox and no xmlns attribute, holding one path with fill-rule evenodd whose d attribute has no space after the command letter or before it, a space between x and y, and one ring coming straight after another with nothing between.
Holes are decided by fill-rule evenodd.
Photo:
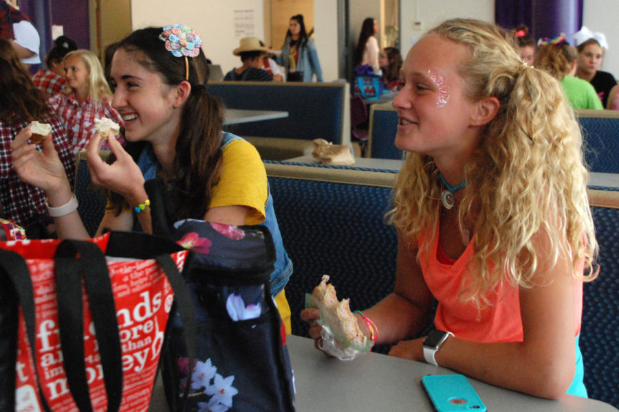
<instances>
[{"instance_id":1,"label":"black strap at the far left end of the red tote bag","mask_svg":"<svg viewBox=\"0 0 619 412\"><path fill-rule=\"evenodd\" d=\"M23 314L23 319L25 322L25 330L28 335L28 343L30 343L30 354L32 355L32 363L34 365L34 376L36 378L37 386L39 387L39 398L41 400L41 404L43 409L46 412L50 412L50 407L45 402L45 396L43 396L43 392L41 391L41 381L39 380L39 371L36 369L36 341L34 332L36 330L35 325L35 314L34 314L34 288L32 287L32 279L30 279L30 270L28 269L28 264L26 264L23 257L14 251L6 251L4 249L0 249L0 276L4 279L9 279L10 284L12 284L12 288L14 288L15 293L17 293L17 301L21 305L21 312ZM17 302L14 302L17 303ZM16 359L17 357L17 310L15 310L14 314L11 316L16 317L16 319L12 320L16 328L14 330L14 341L10 343L11 347L14 347L16 351L14 354L3 354L2 356L11 356L12 359ZM8 331L10 333L11 331ZM13 363L15 365L15 363ZM8 398L6 403L8 403L9 409L5 409L4 407L0 408L0 410L12 410L15 405L15 374L13 371L12 376L6 379L6 386L1 385L1 394L6 394L10 398ZM3 402L4 401L0 401Z\"/></svg>"}]
</instances>

